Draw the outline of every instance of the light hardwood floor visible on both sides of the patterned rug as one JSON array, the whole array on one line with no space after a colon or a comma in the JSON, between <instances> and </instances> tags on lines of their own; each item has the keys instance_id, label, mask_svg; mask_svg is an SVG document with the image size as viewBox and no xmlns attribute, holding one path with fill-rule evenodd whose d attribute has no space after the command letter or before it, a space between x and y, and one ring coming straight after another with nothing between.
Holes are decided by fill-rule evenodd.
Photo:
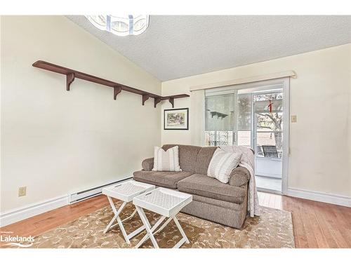
<instances>
[{"instance_id":1,"label":"light hardwood floor visible on both sides of the patterned rug","mask_svg":"<svg viewBox=\"0 0 351 263\"><path fill-rule=\"evenodd\" d=\"M263 192L258 197L260 205L292 213L296 248L351 248L351 208ZM0 231L13 231L12 236L36 236L105 205L105 196L95 196L10 224Z\"/></svg>"}]
</instances>

